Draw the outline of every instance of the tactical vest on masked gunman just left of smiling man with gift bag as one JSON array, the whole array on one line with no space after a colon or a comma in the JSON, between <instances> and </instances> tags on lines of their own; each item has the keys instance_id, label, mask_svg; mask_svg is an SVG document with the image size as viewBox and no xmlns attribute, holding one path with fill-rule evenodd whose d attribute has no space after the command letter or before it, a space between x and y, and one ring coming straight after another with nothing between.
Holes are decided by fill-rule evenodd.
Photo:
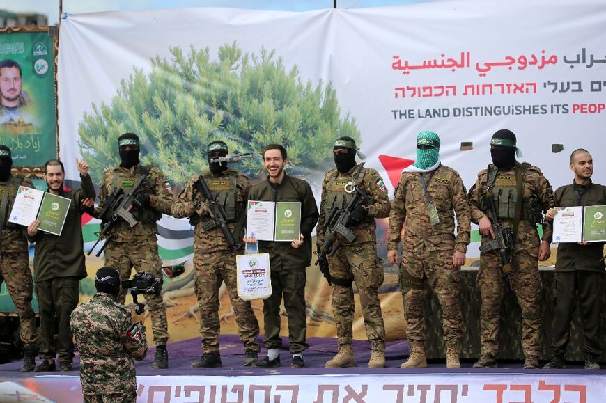
<instances>
[{"instance_id":1,"label":"tactical vest on masked gunman just left of smiling man with gift bag","mask_svg":"<svg viewBox=\"0 0 606 403\"><path fill-rule=\"evenodd\" d=\"M208 186L208 190L210 191L210 196L223 206L223 210L225 211L225 218L228 223L234 223L238 221L238 216L242 214L242 212L238 211L238 206L236 203L236 187L238 184L238 172L230 169L228 171L229 177L220 177L217 178L210 173L210 171L205 171L200 175L200 178L206 182ZM195 226L200 222L200 216L194 216L189 220L189 223L192 226ZM204 228L214 228L215 221L213 221L210 217L205 217L203 220Z\"/></svg>"}]
</instances>

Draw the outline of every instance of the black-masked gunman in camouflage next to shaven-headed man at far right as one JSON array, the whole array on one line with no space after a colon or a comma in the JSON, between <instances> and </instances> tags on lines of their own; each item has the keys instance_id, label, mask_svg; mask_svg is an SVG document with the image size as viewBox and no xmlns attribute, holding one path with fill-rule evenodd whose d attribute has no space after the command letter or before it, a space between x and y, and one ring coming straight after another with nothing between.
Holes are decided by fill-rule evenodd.
<instances>
[{"instance_id":1,"label":"black-masked gunman in camouflage next to shaven-headed man at far right","mask_svg":"<svg viewBox=\"0 0 606 403\"><path fill-rule=\"evenodd\" d=\"M543 223L543 212L554 207L553 190L541 170L515 160L515 134L501 129L492 135L490 156L492 163L478 174L472 189L469 189L469 205L472 221L479 226L482 244L495 239L492 222L488 218L485 197L492 198L499 223L511 228L514 251L511 259L511 274L506 281L511 287L522 309L522 349L524 368L538 368L541 354L541 277L538 260L550 256L552 226ZM543 223L543 240L539 239L536 224ZM485 251L480 258L478 287L482 299L480 318L481 356L474 368L496 368L497 334L501 303L505 294L502 278L501 257L498 249Z\"/></svg>"}]
</instances>

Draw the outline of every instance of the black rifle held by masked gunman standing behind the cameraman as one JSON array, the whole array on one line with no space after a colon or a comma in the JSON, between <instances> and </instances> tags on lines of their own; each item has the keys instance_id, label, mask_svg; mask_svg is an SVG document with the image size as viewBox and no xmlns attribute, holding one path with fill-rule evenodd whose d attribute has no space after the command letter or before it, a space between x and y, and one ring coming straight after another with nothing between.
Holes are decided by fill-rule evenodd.
<instances>
[{"instance_id":1,"label":"black rifle held by masked gunman standing behind the cameraman","mask_svg":"<svg viewBox=\"0 0 606 403\"><path fill-rule=\"evenodd\" d=\"M88 251L86 255L90 256L93 252L93 249L95 248L95 246L97 246L101 239L105 239L105 243L103 244L103 246L101 246L99 251L95 253L95 256L101 255L102 251L105 249L105 246L107 246L107 244L109 243L109 239L111 239L111 230L114 229L114 226L116 225L116 222L118 222L118 219L123 219L124 221L126 221L130 228L137 225L139 221L137 221L137 219L134 218L134 216L130 212L130 210L132 210L132 208L134 207L132 205L132 200L134 200L134 198L137 197L139 193L143 193L143 191L148 191L150 188L151 186L147 181L147 176L141 175L141 177L139 177L139 180L137 180L137 183L134 184L134 187L132 188L132 191L130 193L124 193L123 189L120 188L115 189L107 197L103 210L101 210L101 213L97 217L101 220L101 230L97 234L95 234L98 236L97 242L95 242L91 250Z\"/></svg>"}]
</instances>

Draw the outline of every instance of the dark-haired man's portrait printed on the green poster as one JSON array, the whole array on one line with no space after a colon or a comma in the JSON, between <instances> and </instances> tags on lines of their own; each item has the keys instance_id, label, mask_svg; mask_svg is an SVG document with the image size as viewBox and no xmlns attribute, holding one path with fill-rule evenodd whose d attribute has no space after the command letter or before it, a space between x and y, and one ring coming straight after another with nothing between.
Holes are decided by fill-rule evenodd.
<instances>
[{"instance_id":1,"label":"dark-haired man's portrait printed on the green poster","mask_svg":"<svg viewBox=\"0 0 606 403\"><path fill-rule=\"evenodd\" d=\"M0 61L0 116L3 121L17 120L21 116L20 109L30 101L22 84L19 63L10 58Z\"/></svg>"}]
</instances>

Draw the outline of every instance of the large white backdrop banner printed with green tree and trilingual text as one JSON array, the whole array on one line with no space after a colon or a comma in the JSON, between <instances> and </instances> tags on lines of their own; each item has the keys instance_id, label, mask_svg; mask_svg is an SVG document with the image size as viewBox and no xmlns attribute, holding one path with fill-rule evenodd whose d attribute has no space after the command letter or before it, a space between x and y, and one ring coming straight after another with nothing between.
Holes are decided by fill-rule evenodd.
<instances>
[{"instance_id":1,"label":"large white backdrop banner printed with green tree and trilingual text","mask_svg":"<svg viewBox=\"0 0 606 403\"><path fill-rule=\"evenodd\" d=\"M442 162L469 189L490 163L490 136L507 128L520 161L554 189L572 180L576 148L593 153L593 180L605 182L604 26L602 0L69 15L59 45L61 158L85 157L100 180L118 162L117 137L135 132L142 161L178 187L205 168L212 140L240 152L277 142L320 200L332 143L348 135L393 196L419 131L440 135ZM263 171L260 159L238 168Z\"/></svg>"}]
</instances>

